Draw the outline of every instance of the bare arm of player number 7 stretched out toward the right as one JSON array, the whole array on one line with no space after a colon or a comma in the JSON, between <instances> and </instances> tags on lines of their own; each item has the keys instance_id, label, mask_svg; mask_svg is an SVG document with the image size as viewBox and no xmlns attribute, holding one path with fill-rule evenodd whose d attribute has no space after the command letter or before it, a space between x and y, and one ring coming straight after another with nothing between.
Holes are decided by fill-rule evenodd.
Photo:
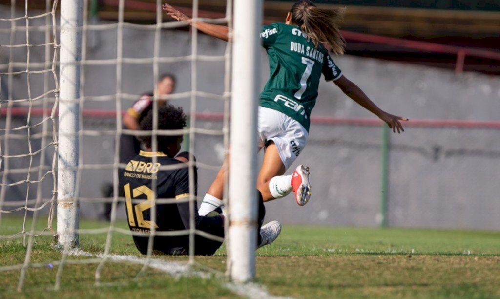
<instances>
[{"instance_id":1,"label":"bare arm of player number 7 stretched out toward the right","mask_svg":"<svg viewBox=\"0 0 500 299\"><path fill-rule=\"evenodd\" d=\"M354 82L347 79L344 75L340 78L333 81L348 97L353 99L355 102L360 104L366 110L378 116L380 119L385 121L392 131L395 133L396 130L398 133L401 131L404 132L403 126L401 125L400 120L407 121L408 118L392 115L387 113L377 107L374 102L372 102L366 94L359 88Z\"/></svg>"}]
</instances>

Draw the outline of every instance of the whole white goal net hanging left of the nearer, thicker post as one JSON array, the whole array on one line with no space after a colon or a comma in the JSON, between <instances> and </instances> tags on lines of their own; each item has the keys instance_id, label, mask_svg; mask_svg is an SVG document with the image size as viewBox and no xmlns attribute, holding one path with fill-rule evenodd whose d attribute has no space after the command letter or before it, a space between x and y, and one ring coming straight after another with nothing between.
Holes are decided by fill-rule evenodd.
<instances>
[{"instance_id":1,"label":"whole white goal net hanging left of the nearer, thicker post","mask_svg":"<svg viewBox=\"0 0 500 299\"><path fill-rule=\"evenodd\" d=\"M132 233L126 226L124 207L121 204L125 198L117 195L118 171L126 165L123 162L120 164L119 146L113 144L118 144L122 133L141 135L139 131L122 128L122 111L137 101L140 92L151 87L156 90L156 78L161 73L173 73L177 77L177 86L175 92L168 95L168 99L172 104L183 107L189 120L188 126L181 131L185 139L183 150L195 153L197 148L203 147L204 140L215 140L216 153L200 154L196 163L200 173L210 173L209 176L213 178L222 164L225 148L228 147L228 117L216 116L217 120L213 122L210 119L214 117L210 113L227 115L230 44L225 44L225 50L220 52L217 50L220 46L210 46L213 41L203 40L205 47L200 48L197 30L191 30L189 35L183 31L167 30L186 25L176 21L164 22L164 18L168 16L162 13L162 3L159 0L154 3L115 1L110 6L115 5L111 12L116 15L117 21L98 20L93 12L89 12L88 7L92 3L83 1L82 25L78 28L82 32L81 60L76 62L80 65L81 73L77 99L79 130L76 132L79 155L78 167L70 169L76 171L78 195L75 200L80 207L81 221L75 232L79 234L80 245L78 250L69 246L65 246L62 251L51 248L53 253L33 260L33 247L34 251L39 252L40 244L49 247L54 245L51 238L55 234L53 218L54 207L57 205L56 113L59 92L57 56L60 46L60 2L47 0L45 11L39 10L39 3L31 7L29 2L11 1L10 7L2 6L9 8L9 13L6 13L6 9L1 9L0 15L0 241L5 248L21 242L22 249L18 250L22 250L24 256L20 263L15 262L15 258L10 263L2 262L0 272L9 275L17 273L17 289L21 290L31 285L31 282L26 281L29 269L56 268L45 283L59 289L64 284L67 273L74 271L74 266L79 265L94 264L91 271L96 285L115 284L123 280L121 275L109 275L109 268L114 267L110 263L139 264L124 275L128 278L139 278L151 268L162 266L163 270L168 269L166 272L178 274L187 268L192 269L192 265L200 265L194 259L192 245L189 258L177 260L176 263L162 264L162 261L151 257L155 235L190 234L191 244L195 234L222 240L195 230L193 218L189 230L159 232L152 225L150 233L133 232L149 236L145 258L139 257L138 251L133 250L135 246L131 243ZM192 6L186 9L186 13L205 22L230 24L230 2L226 6L226 13L221 14L220 18L198 18L196 0L192 1ZM24 10L21 9L21 4ZM126 22L125 15L135 9L133 5L139 5L149 13L154 11L155 21L148 24ZM43 35L43 39L40 35ZM34 76L39 77L33 78ZM200 79L202 84L198 83ZM156 100L161 96L155 93L153 97L153 115L156 115ZM198 122L197 118L200 116L201 120ZM179 131L157 130L157 115L153 116L153 135L178 133ZM155 151L156 148L153 138L152 150ZM213 155L217 158L214 159ZM188 164L194 165L194 162ZM182 167L185 166L187 165ZM160 170L171 168L162 166ZM192 167L189 176L188 200L191 214L194 214L194 200L198 198L194 196ZM106 197L99 191L105 183L112 185L111 197ZM154 193L156 187L153 180ZM206 190L205 187L201 186L200 191ZM106 202L111 203L112 207L110 221L95 221ZM173 199L156 200L157 204L172 202ZM59 203L59 208L60 206ZM153 204L153 222L155 209ZM45 222L47 216L48 221ZM38 219L43 219L46 224L41 225ZM132 250L127 251L125 248ZM220 270L218 272L221 273ZM39 279L37 283L41 283Z\"/></svg>"}]
</instances>

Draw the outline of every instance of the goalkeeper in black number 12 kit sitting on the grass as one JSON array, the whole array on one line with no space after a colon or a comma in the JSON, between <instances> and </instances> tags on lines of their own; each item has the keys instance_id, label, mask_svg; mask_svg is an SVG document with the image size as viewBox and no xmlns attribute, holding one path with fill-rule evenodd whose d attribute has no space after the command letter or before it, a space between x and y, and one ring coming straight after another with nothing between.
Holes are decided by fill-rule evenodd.
<instances>
[{"instance_id":1,"label":"goalkeeper in black number 12 kit sitting on the grass","mask_svg":"<svg viewBox=\"0 0 500 299\"><path fill-rule=\"evenodd\" d=\"M145 116L141 122L142 130L152 129L152 111ZM158 109L158 129L175 130L182 129L186 125L186 116L181 108L170 104ZM142 254L146 254L148 246L148 234L151 226L154 225L157 232L175 231L189 229L189 219L191 216L189 208L189 168L184 165L189 154L180 150L182 135L178 136L157 136L157 152L151 151L151 136L141 137L141 141L147 148L140 151L138 155L127 161L125 169L119 173L119 196L126 198L126 213L128 226L132 232L133 240L137 249ZM177 155L176 155L177 154ZM155 160L153 160L155 157ZM160 169L161 166L177 165L175 169ZM193 169L196 173L196 169ZM196 180L196 175L194 175ZM156 181L156 194L152 189L152 182ZM196 181L194 182L196 189ZM196 193L196 190L195 190ZM262 221L265 208L262 195L258 193L258 236L257 248L271 243L276 239L281 230L278 221L271 221L264 226ZM194 194L196 195L196 194ZM155 205L156 218L151 219L151 208L154 205L154 198L175 199L168 203ZM217 214L213 216L199 216L196 202L194 202L194 223L196 229L207 233L223 237L224 236L224 216ZM195 254L213 254L222 243L211 240L200 235L195 236ZM154 237L154 253L165 254L187 254L189 252L189 236L160 236Z\"/></svg>"}]
</instances>

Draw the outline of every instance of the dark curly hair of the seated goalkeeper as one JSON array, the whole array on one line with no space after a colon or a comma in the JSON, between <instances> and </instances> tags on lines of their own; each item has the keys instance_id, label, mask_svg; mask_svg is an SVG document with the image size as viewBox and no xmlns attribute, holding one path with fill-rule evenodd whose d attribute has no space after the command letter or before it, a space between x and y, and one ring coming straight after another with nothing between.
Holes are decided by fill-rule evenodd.
<instances>
[{"instance_id":1,"label":"dark curly hair of the seated goalkeeper","mask_svg":"<svg viewBox=\"0 0 500 299\"><path fill-rule=\"evenodd\" d=\"M175 107L174 105L165 104L158 107L158 130L178 130L186 126L186 115L182 111L181 107ZM151 109L149 113L140 121L140 129L144 131L151 131L153 129L153 110ZM173 144L177 141L182 134L173 136L162 136L157 135L157 150L164 152L166 146ZM141 136L140 140L146 147L151 148L152 136Z\"/></svg>"}]
</instances>

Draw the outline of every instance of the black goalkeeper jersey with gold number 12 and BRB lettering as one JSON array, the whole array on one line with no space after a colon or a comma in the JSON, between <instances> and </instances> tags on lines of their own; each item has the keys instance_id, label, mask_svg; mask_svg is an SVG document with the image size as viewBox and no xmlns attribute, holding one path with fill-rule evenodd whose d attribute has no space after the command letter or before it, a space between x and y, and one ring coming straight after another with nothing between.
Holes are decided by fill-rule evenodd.
<instances>
[{"instance_id":1,"label":"black goalkeeper jersey with gold number 12 and BRB lettering","mask_svg":"<svg viewBox=\"0 0 500 299\"><path fill-rule=\"evenodd\" d=\"M155 157L154 162L153 157ZM179 168L159 170L160 166L167 165L179 166ZM156 181L156 196L152 189L153 180ZM194 185L196 186L196 181ZM194 195L196 195L196 190L194 190ZM153 225L156 231L189 229L190 209L189 202L185 201L190 196L189 168L186 163L161 152L140 151L119 173L119 196L125 197L128 226L132 231L150 233ZM155 204L155 198L172 199L174 202ZM151 220L151 207L153 206L156 209L154 222ZM199 216L197 210L195 201L194 219L197 229L219 236L221 233L223 235L222 217ZM133 240L139 251L145 254L148 236L133 235ZM188 245L188 235L155 236L153 249L169 254L185 253ZM211 254L202 253L200 250L196 251L199 254Z\"/></svg>"}]
</instances>

